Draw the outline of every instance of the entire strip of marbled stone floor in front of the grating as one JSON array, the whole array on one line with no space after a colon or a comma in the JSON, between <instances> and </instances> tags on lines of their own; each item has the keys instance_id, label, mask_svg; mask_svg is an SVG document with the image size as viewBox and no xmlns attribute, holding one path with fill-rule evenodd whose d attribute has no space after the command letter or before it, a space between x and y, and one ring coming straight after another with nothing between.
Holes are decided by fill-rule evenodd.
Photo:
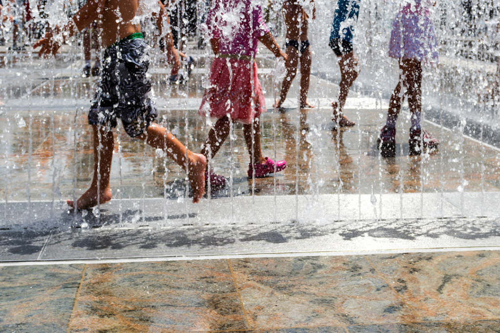
<instances>
[{"instance_id":1,"label":"entire strip of marbled stone floor in front of the grating","mask_svg":"<svg viewBox=\"0 0 500 333\"><path fill-rule=\"evenodd\" d=\"M500 251L0 266L0 332L500 332Z\"/></svg>"}]
</instances>

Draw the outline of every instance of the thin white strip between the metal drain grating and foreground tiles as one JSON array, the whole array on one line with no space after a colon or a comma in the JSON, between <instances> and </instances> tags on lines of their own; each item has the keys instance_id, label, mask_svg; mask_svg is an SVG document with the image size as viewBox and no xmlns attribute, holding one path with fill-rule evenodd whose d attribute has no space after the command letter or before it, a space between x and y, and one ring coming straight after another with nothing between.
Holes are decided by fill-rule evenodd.
<instances>
[{"instance_id":1,"label":"thin white strip between the metal drain grating and foreground tiles","mask_svg":"<svg viewBox=\"0 0 500 333\"><path fill-rule=\"evenodd\" d=\"M186 260L213 260L213 259L247 259L247 258L275 258L275 257L343 257L364 255L387 255L404 253L431 253L431 252L464 252L464 251L500 251L500 246L495 247L458 247L458 248L426 248L426 249L393 249L380 251L331 251L331 252L275 252L261 254L232 254L232 255L205 255L205 256L158 256L158 257L131 257L131 258L108 258L108 259L67 259L67 260L32 260L32 261L0 261L0 267L7 266L38 266L38 265L98 265L110 263L134 263L134 262L163 262L163 261L186 261ZM369 252L369 253L367 253Z\"/></svg>"}]
</instances>

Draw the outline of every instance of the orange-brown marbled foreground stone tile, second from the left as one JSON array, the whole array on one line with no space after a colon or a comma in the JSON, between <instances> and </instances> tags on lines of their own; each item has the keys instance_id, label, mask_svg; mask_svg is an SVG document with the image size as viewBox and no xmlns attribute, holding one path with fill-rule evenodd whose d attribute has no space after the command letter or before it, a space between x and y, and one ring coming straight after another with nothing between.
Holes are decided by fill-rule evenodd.
<instances>
[{"instance_id":1,"label":"orange-brown marbled foreground stone tile, second from the left","mask_svg":"<svg viewBox=\"0 0 500 333\"><path fill-rule=\"evenodd\" d=\"M244 330L226 260L88 265L70 332Z\"/></svg>"}]
</instances>

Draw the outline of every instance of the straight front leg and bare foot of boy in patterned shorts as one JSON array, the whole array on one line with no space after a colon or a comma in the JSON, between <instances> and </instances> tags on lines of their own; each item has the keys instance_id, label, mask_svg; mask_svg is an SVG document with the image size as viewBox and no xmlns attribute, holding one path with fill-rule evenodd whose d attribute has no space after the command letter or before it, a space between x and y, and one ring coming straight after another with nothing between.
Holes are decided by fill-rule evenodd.
<instances>
[{"instance_id":1,"label":"straight front leg and bare foot of boy in patterned shorts","mask_svg":"<svg viewBox=\"0 0 500 333\"><path fill-rule=\"evenodd\" d=\"M93 130L93 159L94 172L90 188L83 193L76 202L67 200L69 207L78 210L88 209L111 200L109 188L109 174L113 158L114 137L113 132L106 126L92 125ZM100 151L98 149L101 145ZM99 161L100 155L100 161ZM98 189L98 190L97 190Z\"/></svg>"}]
</instances>

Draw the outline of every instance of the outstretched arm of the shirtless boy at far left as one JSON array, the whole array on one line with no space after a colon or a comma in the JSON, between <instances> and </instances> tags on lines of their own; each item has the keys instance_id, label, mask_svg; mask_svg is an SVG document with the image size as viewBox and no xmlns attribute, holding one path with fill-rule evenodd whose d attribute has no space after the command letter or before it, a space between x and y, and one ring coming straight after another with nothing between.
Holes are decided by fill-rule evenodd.
<instances>
[{"instance_id":1,"label":"outstretched arm of the shirtless boy at far left","mask_svg":"<svg viewBox=\"0 0 500 333\"><path fill-rule=\"evenodd\" d=\"M87 1L80 10L74 14L72 19L70 19L62 27L56 26L54 31L48 30L45 32L45 36L33 44L33 48L41 46L38 56L46 54L54 54L57 52L62 43L76 32L82 30L85 26L92 23L97 19L99 12L104 10L104 4L106 0L93 0ZM99 9L99 10L98 10ZM62 40L56 40L54 35L59 35Z\"/></svg>"}]
</instances>

